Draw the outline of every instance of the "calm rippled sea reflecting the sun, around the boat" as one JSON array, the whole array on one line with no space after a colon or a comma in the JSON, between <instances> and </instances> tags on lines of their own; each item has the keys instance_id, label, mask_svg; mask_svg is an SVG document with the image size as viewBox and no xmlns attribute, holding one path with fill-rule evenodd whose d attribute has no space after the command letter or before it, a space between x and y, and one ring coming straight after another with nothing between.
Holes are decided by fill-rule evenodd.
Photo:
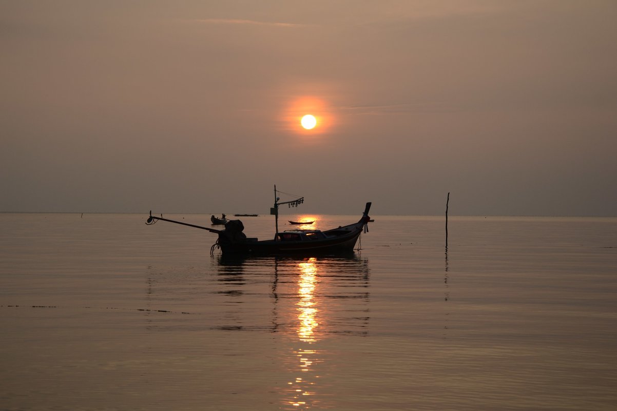
<instances>
[{"instance_id":1,"label":"calm rippled sea reflecting the sun, around the boat","mask_svg":"<svg viewBox=\"0 0 617 411\"><path fill-rule=\"evenodd\" d=\"M279 230L309 217L360 214ZM1 213L0 409L617 409L617 218L371 218L352 255L228 258L146 213Z\"/></svg>"}]
</instances>

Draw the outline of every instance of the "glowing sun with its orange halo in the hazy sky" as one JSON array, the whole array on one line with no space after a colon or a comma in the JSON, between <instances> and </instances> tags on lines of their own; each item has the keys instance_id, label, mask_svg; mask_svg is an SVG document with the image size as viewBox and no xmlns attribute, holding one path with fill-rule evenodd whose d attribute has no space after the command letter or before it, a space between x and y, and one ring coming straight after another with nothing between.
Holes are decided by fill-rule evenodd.
<instances>
[{"instance_id":1,"label":"glowing sun with its orange halo in the hazy sky","mask_svg":"<svg viewBox=\"0 0 617 411\"><path fill-rule=\"evenodd\" d=\"M284 114L287 128L306 136L320 135L333 125L333 115L328 104L318 97L302 96L287 104Z\"/></svg>"}]
</instances>

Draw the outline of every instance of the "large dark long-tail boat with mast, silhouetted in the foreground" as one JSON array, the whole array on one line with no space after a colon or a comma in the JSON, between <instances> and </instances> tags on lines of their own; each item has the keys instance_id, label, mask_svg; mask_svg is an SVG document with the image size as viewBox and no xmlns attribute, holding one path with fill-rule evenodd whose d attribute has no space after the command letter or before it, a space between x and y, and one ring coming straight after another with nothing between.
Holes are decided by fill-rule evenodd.
<instances>
[{"instance_id":1,"label":"large dark long-tail boat with mast, silhouetted in the foreground","mask_svg":"<svg viewBox=\"0 0 617 411\"><path fill-rule=\"evenodd\" d=\"M240 220L229 220L225 224L225 230L214 230L213 228L202 227L198 225L182 223L167 218L154 217L150 212L150 217L146 224L153 224L157 220L163 220L181 225L188 225L195 228L202 228L212 233L218 234L218 239L213 244L210 252L215 247L219 247L223 254L303 254L303 255L335 255L344 252L352 252L358 237L364 231L368 231L368 223L371 218L368 217L368 211L371 208L371 203L367 202L362 217L357 223L352 223L345 226L338 226L330 230L286 230L278 231L278 207L279 205L288 204L289 207L304 202L304 197L297 198L292 201L279 202L279 197L276 196L275 186L275 203L271 208L271 214L276 217L276 231L273 239L258 241L257 238L247 238L242 232L244 224ZM225 218L225 214L223 214ZM212 223L215 223L216 217L212 216Z\"/></svg>"}]
</instances>

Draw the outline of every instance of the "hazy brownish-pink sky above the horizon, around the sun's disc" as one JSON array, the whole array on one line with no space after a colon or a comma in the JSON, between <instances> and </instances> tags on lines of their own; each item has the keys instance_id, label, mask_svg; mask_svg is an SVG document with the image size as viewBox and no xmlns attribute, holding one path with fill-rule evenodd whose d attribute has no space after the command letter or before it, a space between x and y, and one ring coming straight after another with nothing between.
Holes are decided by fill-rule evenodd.
<instances>
[{"instance_id":1,"label":"hazy brownish-pink sky above the horizon, around the sun's disc","mask_svg":"<svg viewBox=\"0 0 617 411\"><path fill-rule=\"evenodd\" d=\"M0 0L0 106L0 211L617 215L615 0Z\"/></svg>"}]
</instances>

